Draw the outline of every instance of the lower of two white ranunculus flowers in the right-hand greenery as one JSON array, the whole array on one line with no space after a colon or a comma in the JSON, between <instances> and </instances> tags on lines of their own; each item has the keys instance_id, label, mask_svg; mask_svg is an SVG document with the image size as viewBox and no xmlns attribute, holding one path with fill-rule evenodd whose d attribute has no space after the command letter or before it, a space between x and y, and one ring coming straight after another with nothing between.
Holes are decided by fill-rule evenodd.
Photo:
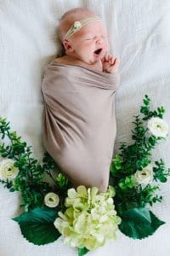
<instances>
[{"instance_id":1,"label":"lower of two white ranunculus flowers in the right-hand greenery","mask_svg":"<svg viewBox=\"0 0 170 256\"><path fill-rule=\"evenodd\" d=\"M144 188L153 181L153 166L148 165L142 171L135 172L134 178L136 183L142 185Z\"/></svg>"}]
</instances>

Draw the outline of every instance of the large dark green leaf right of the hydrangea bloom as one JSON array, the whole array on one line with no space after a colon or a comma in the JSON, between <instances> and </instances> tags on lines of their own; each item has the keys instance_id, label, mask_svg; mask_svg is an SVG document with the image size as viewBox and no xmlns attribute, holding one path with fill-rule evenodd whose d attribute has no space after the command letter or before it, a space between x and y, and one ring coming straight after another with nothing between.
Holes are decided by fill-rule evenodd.
<instances>
[{"instance_id":1,"label":"large dark green leaf right of the hydrangea bloom","mask_svg":"<svg viewBox=\"0 0 170 256\"><path fill-rule=\"evenodd\" d=\"M119 229L126 236L142 239L152 235L165 222L156 218L149 209L132 208L122 213Z\"/></svg>"}]
</instances>

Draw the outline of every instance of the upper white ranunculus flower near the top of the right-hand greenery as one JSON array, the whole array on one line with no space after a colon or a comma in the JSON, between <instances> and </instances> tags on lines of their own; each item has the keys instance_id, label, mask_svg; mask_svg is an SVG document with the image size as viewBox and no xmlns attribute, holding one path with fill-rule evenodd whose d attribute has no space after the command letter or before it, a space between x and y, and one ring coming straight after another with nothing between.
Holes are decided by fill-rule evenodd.
<instances>
[{"instance_id":1,"label":"upper white ranunculus flower near the top of the right-hand greenery","mask_svg":"<svg viewBox=\"0 0 170 256\"><path fill-rule=\"evenodd\" d=\"M151 118L148 121L148 128L150 132L156 137L167 137L168 125L160 118Z\"/></svg>"}]
</instances>

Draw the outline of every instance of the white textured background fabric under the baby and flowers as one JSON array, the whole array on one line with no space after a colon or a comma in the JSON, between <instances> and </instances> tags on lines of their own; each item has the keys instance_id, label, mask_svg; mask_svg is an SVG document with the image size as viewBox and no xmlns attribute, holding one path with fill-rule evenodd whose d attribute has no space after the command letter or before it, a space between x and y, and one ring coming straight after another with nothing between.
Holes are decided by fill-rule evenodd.
<instances>
[{"instance_id":1,"label":"white textured background fabric under the baby and flowers","mask_svg":"<svg viewBox=\"0 0 170 256\"><path fill-rule=\"evenodd\" d=\"M168 0L0 0L0 116L33 146L42 160L43 68L59 53L56 26L59 17L75 7L93 9L104 20L110 35L110 53L121 57L121 86L116 94L117 137L130 142L133 115L144 94L153 108L163 105L170 125L170 2ZM170 139L154 151L170 166ZM161 186L163 201L152 208L167 222L154 236L134 241L120 232L88 255L167 256L170 253L170 186ZM14 218L20 213L20 196L0 184L0 256L76 256L77 251L59 241L35 246L20 235Z\"/></svg>"}]
</instances>

